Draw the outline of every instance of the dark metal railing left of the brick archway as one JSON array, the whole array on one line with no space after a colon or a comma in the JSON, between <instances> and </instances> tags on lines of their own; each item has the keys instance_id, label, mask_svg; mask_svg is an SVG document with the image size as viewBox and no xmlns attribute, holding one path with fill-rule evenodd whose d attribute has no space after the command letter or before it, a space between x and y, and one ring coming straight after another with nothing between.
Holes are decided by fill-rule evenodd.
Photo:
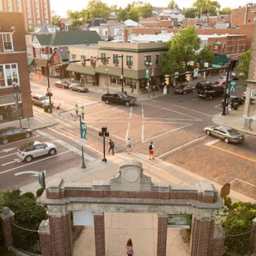
<instances>
[{"instance_id":1,"label":"dark metal railing left of the brick archway","mask_svg":"<svg viewBox=\"0 0 256 256\"><path fill-rule=\"evenodd\" d=\"M27 255L41 255L38 230L30 230L12 223L12 245Z\"/></svg>"}]
</instances>

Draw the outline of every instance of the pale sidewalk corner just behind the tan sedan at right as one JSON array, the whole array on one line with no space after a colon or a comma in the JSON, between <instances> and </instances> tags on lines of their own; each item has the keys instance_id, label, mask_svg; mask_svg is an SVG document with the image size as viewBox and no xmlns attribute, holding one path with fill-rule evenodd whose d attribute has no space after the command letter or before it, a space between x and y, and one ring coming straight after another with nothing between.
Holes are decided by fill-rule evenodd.
<instances>
[{"instance_id":1,"label":"pale sidewalk corner just behind the tan sedan at right","mask_svg":"<svg viewBox=\"0 0 256 256\"><path fill-rule=\"evenodd\" d=\"M219 110L221 112L221 110ZM244 105L241 105L238 110L231 110L230 114L222 116L221 113L212 118L214 124L227 125L233 127L238 131L245 132L249 135L256 135L256 114L252 115L251 129L244 129Z\"/></svg>"}]
</instances>

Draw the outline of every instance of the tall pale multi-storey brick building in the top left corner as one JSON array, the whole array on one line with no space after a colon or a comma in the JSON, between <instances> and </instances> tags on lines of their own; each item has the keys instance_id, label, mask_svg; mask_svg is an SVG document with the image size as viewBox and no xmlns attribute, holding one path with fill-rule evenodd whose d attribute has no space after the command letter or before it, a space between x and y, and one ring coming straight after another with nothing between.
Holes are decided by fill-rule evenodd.
<instances>
[{"instance_id":1,"label":"tall pale multi-storey brick building in the top left corner","mask_svg":"<svg viewBox=\"0 0 256 256\"><path fill-rule=\"evenodd\" d=\"M50 0L0 0L0 12L23 12L26 31L51 23Z\"/></svg>"}]
</instances>

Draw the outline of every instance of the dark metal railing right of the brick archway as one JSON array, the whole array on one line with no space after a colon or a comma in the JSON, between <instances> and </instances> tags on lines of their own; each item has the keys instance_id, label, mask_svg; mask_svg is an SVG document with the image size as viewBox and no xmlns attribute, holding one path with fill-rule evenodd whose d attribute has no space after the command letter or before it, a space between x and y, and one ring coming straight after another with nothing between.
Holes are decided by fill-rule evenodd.
<instances>
[{"instance_id":1,"label":"dark metal railing right of the brick archway","mask_svg":"<svg viewBox=\"0 0 256 256\"><path fill-rule=\"evenodd\" d=\"M249 256L252 253L256 228L238 235L226 236L223 256Z\"/></svg>"}]
</instances>

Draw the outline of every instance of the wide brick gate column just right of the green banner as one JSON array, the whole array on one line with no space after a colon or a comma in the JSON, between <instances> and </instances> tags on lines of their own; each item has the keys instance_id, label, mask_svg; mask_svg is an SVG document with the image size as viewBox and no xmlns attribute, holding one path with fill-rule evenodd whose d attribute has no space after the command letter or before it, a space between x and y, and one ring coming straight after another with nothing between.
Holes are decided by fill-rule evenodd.
<instances>
[{"instance_id":1,"label":"wide brick gate column just right of the green banner","mask_svg":"<svg viewBox=\"0 0 256 256\"><path fill-rule=\"evenodd\" d=\"M193 217L191 234L191 256L211 255L211 241L214 232L214 220Z\"/></svg>"}]
</instances>

